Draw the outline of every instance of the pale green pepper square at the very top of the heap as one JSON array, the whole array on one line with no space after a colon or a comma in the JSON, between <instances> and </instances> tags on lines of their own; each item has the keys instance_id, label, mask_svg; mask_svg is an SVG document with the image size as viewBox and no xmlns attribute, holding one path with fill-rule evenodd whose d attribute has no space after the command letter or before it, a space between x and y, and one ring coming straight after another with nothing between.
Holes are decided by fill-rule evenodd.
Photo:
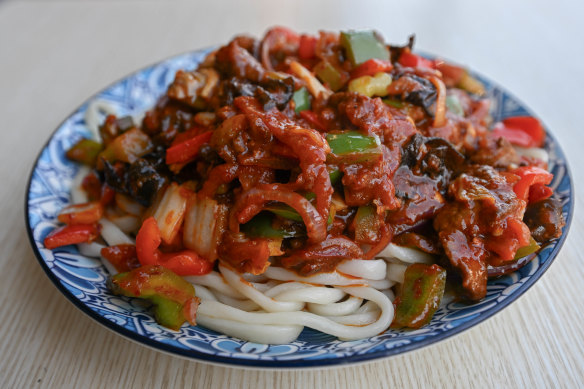
<instances>
[{"instance_id":1,"label":"pale green pepper square at the very top of the heap","mask_svg":"<svg viewBox=\"0 0 584 389\"><path fill-rule=\"evenodd\" d=\"M389 60L389 51L373 31L347 31L341 32L341 45L345 48L347 56L353 66L377 58Z\"/></svg>"}]
</instances>

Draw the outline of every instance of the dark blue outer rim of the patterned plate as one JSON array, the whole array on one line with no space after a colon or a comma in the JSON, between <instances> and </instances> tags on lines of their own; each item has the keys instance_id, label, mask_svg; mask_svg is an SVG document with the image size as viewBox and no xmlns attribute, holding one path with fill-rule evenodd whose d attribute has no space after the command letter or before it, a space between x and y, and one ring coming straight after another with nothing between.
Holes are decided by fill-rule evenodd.
<instances>
[{"instance_id":1,"label":"dark blue outer rim of the patterned plate","mask_svg":"<svg viewBox=\"0 0 584 389\"><path fill-rule=\"evenodd\" d=\"M521 290L519 290L518 292L515 292L513 294L513 296L510 296L509 298L506 298L506 299L502 300L501 302L498 302L497 305L495 305L494 307L490 308L489 310L483 312L480 316L477 316L476 318L470 319L470 320L458 325L457 327L450 329L448 332L442 333L442 334L434 336L434 337L428 337L428 338L423 339L421 341L412 342L412 343L402 345L402 346L396 346L392 349L382 349L382 350L378 350L378 351L374 351L374 352L370 352L370 353L366 353L366 354L354 354L354 355L350 355L350 356L315 359L315 360L310 360L310 359L309 360L307 360L307 359L296 359L296 360L244 359L244 358L238 358L238 357L234 357L234 356L220 356L220 355L216 355L216 354L208 354L208 353L204 353L204 352L201 352L198 350L193 350L193 349L189 349L189 350L182 349L179 347L175 347L175 346L172 346L169 344L162 343L158 340L153 340L150 337L148 337L147 335L141 335L141 334L135 333L131 330L126 329L125 327L123 327L121 325L118 325L118 324L106 319L105 317L101 316L97 312L91 310L81 300L77 299L71 291L69 291L67 288L65 288L61 284L60 279L49 269L47 263L44 260L43 255L41 254L41 252L39 251L39 248L36 245L36 241L35 241L34 235L33 235L33 229L30 225L29 199L30 199L30 190L31 190L33 177L34 177L35 171L37 170L39 160L40 160L44 150L49 146L50 142L53 140L57 131L66 123L66 121L71 116L73 116L77 111L79 111L85 104L91 102L92 100L95 100L99 96L99 94L101 94L102 92L110 89L111 87L117 85L118 83L120 83L120 82L122 82L122 81L136 75L136 74L139 74L140 72L143 72L146 69L154 68L156 66L161 65L162 63L164 63L166 61L170 61L174 58L177 58L177 57L180 57L183 55L195 54L198 52L205 52L207 50L212 50L214 48L215 47L207 47L207 48L196 49L196 50L188 50L188 51L184 51L181 53L171 55L171 56L166 57L162 60L159 60L159 61L153 62L149 65L140 67L139 69L137 69L133 72L130 72L130 73L116 79L115 81L109 83L105 87L98 90L96 93L91 94L88 98L84 99L83 102L80 105L78 105L71 113L69 113L67 116L65 116L65 118L55 127L55 129L50 133L47 140L43 143L43 146L40 148L40 150L39 150L39 152L34 160L34 163L32 164L31 171L29 173L29 176L27 179L27 184L26 184L26 192L25 192L25 199L24 199L24 217L25 217L27 235L28 235L28 239L29 239L30 245L32 247L33 253L35 254L37 261L40 263L41 268L43 269L45 274L48 276L48 278L51 280L53 285L57 288L57 290L59 290L61 292L61 294L63 294L67 298L67 300L69 300L75 307L77 307L83 313L88 315L90 318L92 318L97 323L101 324L103 327L107 328L110 331L113 331L116 334L123 336L124 338L126 338L132 342L138 343L142 346L146 346L146 347L154 349L156 351L160 351L160 352L163 352L165 354L170 354L172 356L177 356L177 357L188 359L191 361L197 361L197 362L202 362L202 363L207 363L207 364L212 364L212 365L219 365L219 366L225 366L225 367L231 367L231 368L246 368L246 369L253 368L253 369L259 369L259 370L277 370L277 369L300 370L300 369L315 369L315 368L319 368L319 367L327 367L327 368L345 367L347 365L363 364L363 363L367 363L367 362L370 362L373 360L380 360L380 359L386 359L386 358L393 357L393 356L403 355L405 353L419 350L419 349L428 347L430 345L435 345L435 344L440 343L444 340L451 339L452 337L459 335L462 332L464 332L472 327L483 324L485 321L489 320L494 315L501 312L503 309L505 309L511 303L519 300L519 298L522 297L533 286L533 284L535 284L535 282L537 280L539 280L540 278L543 277L543 275L547 272L547 270L549 269L551 264L553 262L555 262L560 250L562 249L562 247L563 247L563 245L568 237L568 233L569 233L569 230L570 230L570 227L572 224L572 218L574 216L574 207L575 207L575 204L574 204L575 203L575 201L574 201L574 199L575 199L574 182L572 179L573 176L571 173L571 169L569 166L567 155L564 152L564 150L562 149L562 147L561 147L560 143L558 142L558 140L556 139L556 137L553 135L553 133L550 130L548 130L550 127L548 127L545 124L545 122L538 115L535 115L534 111L529 106L527 106L522 100L518 99L515 96L515 94L511 93L508 89L501 87L501 85L498 82L493 81L490 77L485 76L483 73L479 73L479 72L475 71L474 69L471 69L471 73L478 75L480 78L482 78L484 80L487 80L490 85L492 85L494 88L504 92L504 94L506 94L513 101L518 103L521 106L521 108L524 109L530 116L537 118L542 123L542 125L545 129L546 135L548 137L550 137L552 141L554 141L554 145L555 145L557 151L559 151L558 154L559 154L559 156L562 157L561 160L564 162L564 166L565 166L565 176L567 176L568 183L569 183L569 195L567 197L568 198L568 211L567 211L567 217L565 220L566 224L564 226L562 236L560 236L558 238L558 240L555 242L554 248L549 252L549 254L548 254L549 259L546 260L543 264L540 264L540 267L538 268L537 273L534 274L533 276L531 276L527 281L525 281L522 284ZM446 59L442 56L427 53L426 51L422 52L422 54L424 56L428 56L428 57ZM446 60L449 60L449 59L446 59ZM451 61L451 62L457 63L456 61Z\"/></svg>"}]
</instances>

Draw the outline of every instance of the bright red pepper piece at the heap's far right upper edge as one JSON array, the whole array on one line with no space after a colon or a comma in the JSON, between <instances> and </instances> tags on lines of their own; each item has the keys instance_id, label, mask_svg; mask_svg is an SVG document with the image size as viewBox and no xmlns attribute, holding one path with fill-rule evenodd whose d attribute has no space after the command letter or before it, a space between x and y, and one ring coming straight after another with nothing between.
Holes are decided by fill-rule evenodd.
<instances>
[{"instance_id":1,"label":"bright red pepper piece at the heap's far right upper edge","mask_svg":"<svg viewBox=\"0 0 584 389\"><path fill-rule=\"evenodd\" d=\"M495 124L493 135L523 147L541 147L545 140L545 131L541 123L531 116L514 116L504 119Z\"/></svg>"}]
</instances>

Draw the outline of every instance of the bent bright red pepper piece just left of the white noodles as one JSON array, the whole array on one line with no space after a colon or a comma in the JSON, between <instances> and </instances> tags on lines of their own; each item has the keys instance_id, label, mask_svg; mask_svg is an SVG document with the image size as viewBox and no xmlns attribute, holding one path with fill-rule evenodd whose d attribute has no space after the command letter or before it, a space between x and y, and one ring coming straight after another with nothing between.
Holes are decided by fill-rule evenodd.
<instances>
[{"instance_id":1,"label":"bent bright red pepper piece just left of the white noodles","mask_svg":"<svg viewBox=\"0 0 584 389\"><path fill-rule=\"evenodd\" d=\"M193 250L161 252L158 249L161 242L156 219L149 217L142 223L136 236L136 254L143 266L162 265L180 276L203 275L213 270L213 263L200 257Z\"/></svg>"}]
</instances>

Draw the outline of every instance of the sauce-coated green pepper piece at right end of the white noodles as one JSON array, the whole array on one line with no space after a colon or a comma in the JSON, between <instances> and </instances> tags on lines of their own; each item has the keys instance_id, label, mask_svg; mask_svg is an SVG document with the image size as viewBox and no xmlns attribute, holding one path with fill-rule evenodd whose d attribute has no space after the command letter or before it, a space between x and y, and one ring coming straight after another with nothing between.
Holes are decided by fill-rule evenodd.
<instances>
[{"instance_id":1,"label":"sauce-coated green pepper piece at right end of the white noodles","mask_svg":"<svg viewBox=\"0 0 584 389\"><path fill-rule=\"evenodd\" d=\"M414 263L406 269L396 301L394 328L420 328L432 320L446 286L446 270L438 265Z\"/></svg>"}]
</instances>

